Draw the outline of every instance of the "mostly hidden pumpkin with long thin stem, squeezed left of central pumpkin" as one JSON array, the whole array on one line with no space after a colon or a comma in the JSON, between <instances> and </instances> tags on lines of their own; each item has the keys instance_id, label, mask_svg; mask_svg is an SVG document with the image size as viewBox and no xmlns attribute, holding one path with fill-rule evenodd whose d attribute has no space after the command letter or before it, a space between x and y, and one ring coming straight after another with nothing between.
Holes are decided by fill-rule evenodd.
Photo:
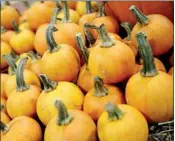
<instances>
[{"instance_id":1,"label":"mostly hidden pumpkin with long thin stem, squeezed left of central pumpkin","mask_svg":"<svg viewBox=\"0 0 175 141\"><path fill-rule=\"evenodd\" d=\"M85 64L80 69L78 80L77 80L77 86L79 86L83 91L88 92L91 88L93 88L93 85L94 85L93 76L87 67L89 51L85 46L81 33L76 34L76 39L85 62Z\"/></svg>"}]
</instances>

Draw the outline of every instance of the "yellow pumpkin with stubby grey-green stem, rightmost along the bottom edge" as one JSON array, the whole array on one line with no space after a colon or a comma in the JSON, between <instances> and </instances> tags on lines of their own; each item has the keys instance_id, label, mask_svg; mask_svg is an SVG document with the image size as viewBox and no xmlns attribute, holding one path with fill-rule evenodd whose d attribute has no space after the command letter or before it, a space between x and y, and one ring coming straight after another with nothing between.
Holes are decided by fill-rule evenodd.
<instances>
[{"instance_id":1,"label":"yellow pumpkin with stubby grey-green stem, rightmost along the bottom edge","mask_svg":"<svg viewBox=\"0 0 175 141\"><path fill-rule=\"evenodd\" d=\"M134 107L108 103L97 123L100 141L147 141L148 124Z\"/></svg>"}]
</instances>

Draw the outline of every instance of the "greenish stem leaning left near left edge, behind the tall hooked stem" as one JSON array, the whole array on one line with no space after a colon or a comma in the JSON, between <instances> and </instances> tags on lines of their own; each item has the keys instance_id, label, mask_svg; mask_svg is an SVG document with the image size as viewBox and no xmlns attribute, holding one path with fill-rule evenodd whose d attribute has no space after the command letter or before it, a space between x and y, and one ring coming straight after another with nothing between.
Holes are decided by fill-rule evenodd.
<instances>
[{"instance_id":1,"label":"greenish stem leaning left near left edge, behind the tall hooked stem","mask_svg":"<svg viewBox=\"0 0 175 141\"><path fill-rule=\"evenodd\" d=\"M17 66L15 64L15 61L10 57L10 55L3 55L2 57L6 60L7 64L10 67L10 75L16 74Z\"/></svg>"}]
</instances>

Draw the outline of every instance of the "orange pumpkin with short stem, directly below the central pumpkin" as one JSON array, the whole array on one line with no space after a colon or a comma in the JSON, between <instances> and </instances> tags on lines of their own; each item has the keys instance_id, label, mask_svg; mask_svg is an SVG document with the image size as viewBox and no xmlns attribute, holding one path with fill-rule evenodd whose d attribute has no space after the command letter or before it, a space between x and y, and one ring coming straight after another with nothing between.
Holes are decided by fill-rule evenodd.
<instances>
[{"instance_id":1,"label":"orange pumpkin with short stem, directly below the central pumpkin","mask_svg":"<svg viewBox=\"0 0 175 141\"><path fill-rule=\"evenodd\" d=\"M125 98L122 91L112 85L104 85L98 76L94 77L94 87L85 96L83 110L97 121L108 102L124 104Z\"/></svg>"}]
</instances>

